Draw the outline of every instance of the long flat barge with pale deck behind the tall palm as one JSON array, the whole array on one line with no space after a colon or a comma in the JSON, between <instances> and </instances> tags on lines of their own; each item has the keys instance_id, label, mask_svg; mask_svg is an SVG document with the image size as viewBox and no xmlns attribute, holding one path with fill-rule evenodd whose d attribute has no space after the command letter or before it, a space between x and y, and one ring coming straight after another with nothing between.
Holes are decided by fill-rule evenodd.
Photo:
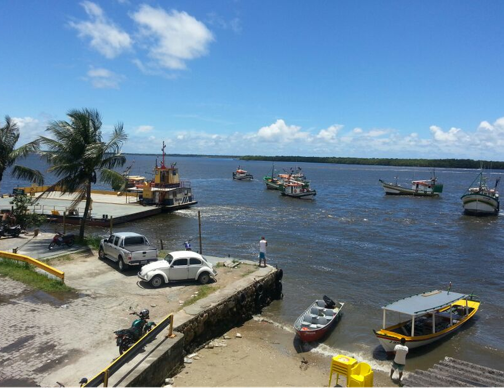
<instances>
[{"instance_id":1,"label":"long flat barge with pale deck behind the tall palm","mask_svg":"<svg viewBox=\"0 0 504 388\"><path fill-rule=\"evenodd\" d=\"M66 212L65 222L69 224L80 223L86 201L80 201L77 207L71 210L70 207L74 198L72 194L52 192L38 198L39 195L37 193L33 196L34 203L30 206L32 212L45 214L51 221L55 222L62 222L64 212ZM134 196L92 193L91 198L92 204L88 225L108 226L111 217L114 224L119 224L161 213L159 207L142 206L137 203ZM0 198L0 209L11 209L11 200L12 198Z\"/></svg>"}]
</instances>

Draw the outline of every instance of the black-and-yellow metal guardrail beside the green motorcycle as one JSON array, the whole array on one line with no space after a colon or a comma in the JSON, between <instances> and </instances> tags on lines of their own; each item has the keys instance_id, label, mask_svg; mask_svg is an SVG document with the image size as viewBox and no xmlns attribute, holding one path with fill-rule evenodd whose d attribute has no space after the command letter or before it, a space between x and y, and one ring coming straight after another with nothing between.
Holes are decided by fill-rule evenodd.
<instances>
[{"instance_id":1,"label":"black-and-yellow metal guardrail beside the green motorcycle","mask_svg":"<svg viewBox=\"0 0 504 388\"><path fill-rule=\"evenodd\" d=\"M109 384L109 377L116 373L121 367L124 366L125 363L131 361L133 357L135 357L138 352L151 340L153 340L156 335L158 335L163 329L170 325L170 331L166 335L167 337L173 338L173 313L167 315L154 329L150 332L146 333L143 337L141 337L130 349L122 353L119 357L117 357L114 362L112 362L108 367L103 369L100 373L98 373L95 377L89 380L83 387L94 388L103 384L104 388L107 388Z\"/></svg>"}]
</instances>

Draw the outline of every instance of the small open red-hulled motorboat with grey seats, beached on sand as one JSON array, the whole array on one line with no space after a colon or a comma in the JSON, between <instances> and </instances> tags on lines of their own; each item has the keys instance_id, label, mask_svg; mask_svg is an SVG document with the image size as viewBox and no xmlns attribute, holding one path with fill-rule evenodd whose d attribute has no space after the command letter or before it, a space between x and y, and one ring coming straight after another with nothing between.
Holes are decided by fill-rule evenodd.
<instances>
[{"instance_id":1,"label":"small open red-hulled motorboat with grey seats, beached on sand","mask_svg":"<svg viewBox=\"0 0 504 388\"><path fill-rule=\"evenodd\" d=\"M296 319L294 329L303 342L317 341L331 331L341 319L344 303L337 303L324 295Z\"/></svg>"}]
</instances>

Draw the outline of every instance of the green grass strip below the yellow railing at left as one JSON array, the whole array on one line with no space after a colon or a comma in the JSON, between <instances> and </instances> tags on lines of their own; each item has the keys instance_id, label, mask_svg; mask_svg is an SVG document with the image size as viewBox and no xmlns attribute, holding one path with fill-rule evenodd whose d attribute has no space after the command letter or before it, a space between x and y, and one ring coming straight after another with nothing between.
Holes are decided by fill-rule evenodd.
<instances>
[{"instance_id":1,"label":"green grass strip below the yellow railing at left","mask_svg":"<svg viewBox=\"0 0 504 388\"><path fill-rule=\"evenodd\" d=\"M35 267L25 262L11 261L9 259L0 260L0 275L7 276L12 280L24 283L35 289L62 293L75 291L59 279L52 279L35 271Z\"/></svg>"}]
</instances>

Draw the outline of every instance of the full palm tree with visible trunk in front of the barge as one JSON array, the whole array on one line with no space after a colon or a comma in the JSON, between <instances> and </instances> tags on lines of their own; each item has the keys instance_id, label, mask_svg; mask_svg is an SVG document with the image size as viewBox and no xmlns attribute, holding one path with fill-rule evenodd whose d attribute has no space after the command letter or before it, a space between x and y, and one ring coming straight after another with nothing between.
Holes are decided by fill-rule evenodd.
<instances>
[{"instance_id":1,"label":"full palm tree with visible trunk in front of the barge","mask_svg":"<svg viewBox=\"0 0 504 388\"><path fill-rule=\"evenodd\" d=\"M79 232L82 240L91 204L91 186L97 180L113 187L125 186L124 176L114 168L123 166L126 161L121 146L128 136L119 123L109 141L103 142L100 114L94 109L70 110L67 116L70 122L50 123L47 131L51 138L40 136L40 143L47 150L43 155L51 164L48 172L58 177L46 192L75 193L72 207L86 199Z\"/></svg>"}]
</instances>

